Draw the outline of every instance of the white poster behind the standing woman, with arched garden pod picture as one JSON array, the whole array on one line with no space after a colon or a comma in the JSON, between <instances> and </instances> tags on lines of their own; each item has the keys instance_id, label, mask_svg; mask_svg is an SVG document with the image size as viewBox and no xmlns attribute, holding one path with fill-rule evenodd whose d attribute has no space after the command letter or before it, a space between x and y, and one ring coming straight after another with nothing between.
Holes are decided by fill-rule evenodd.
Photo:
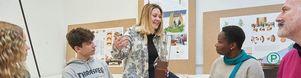
<instances>
[{"instance_id":1,"label":"white poster behind the standing woman, with arched garden pod picture","mask_svg":"<svg viewBox=\"0 0 301 78\"><path fill-rule=\"evenodd\" d=\"M164 32L173 36L167 40L170 58L169 55L166 57L170 60L188 59L188 0L150 0L150 3L162 8ZM148 0L144 0L145 4Z\"/></svg>"}]
</instances>

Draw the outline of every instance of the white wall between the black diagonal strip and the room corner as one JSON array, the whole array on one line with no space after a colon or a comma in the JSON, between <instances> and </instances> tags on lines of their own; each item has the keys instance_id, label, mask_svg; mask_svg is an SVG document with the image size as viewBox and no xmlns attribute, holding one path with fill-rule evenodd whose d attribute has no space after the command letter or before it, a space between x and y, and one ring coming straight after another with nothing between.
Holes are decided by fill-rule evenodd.
<instances>
[{"instance_id":1,"label":"white wall between the black diagonal strip and the room corner","mask_svg":"<svg viewBox=\"0 0 301 78\"><path fill-rule=\"evenodd\" d=\"M40 75L60 74L66 51L63 1L22 0L22 6Z\"/></svg>"}]
</instances>

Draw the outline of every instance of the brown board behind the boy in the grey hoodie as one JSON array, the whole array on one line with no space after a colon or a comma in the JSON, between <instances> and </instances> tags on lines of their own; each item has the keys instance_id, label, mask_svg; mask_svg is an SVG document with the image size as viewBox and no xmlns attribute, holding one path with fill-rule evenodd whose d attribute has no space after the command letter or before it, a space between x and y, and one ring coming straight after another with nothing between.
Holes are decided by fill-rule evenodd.
<instances>
[{"instance_id":1,"label":"brown board behind the boy in the grey hoodie","mask_svg":"<svg viewBox=\"0 0 301 78\"><path fill-rule=\"evenodd\" d=\"M87 29L103 29L103 28L114 28L114 27L123 27L123 33L126 28L132 27L132 25L136 24L136 18L125 19L125 20L112 20L105 22L96 22L96 23L85 23L85 24L76 24L76 25L68 25L68 32L72 29L83 27ZM66 61L69 61L71 58L75 58L75 51L70 47L67 42L66 47ZM122 73L122 67L109 67L111 73Z\"/></svg>"}]
</instances>

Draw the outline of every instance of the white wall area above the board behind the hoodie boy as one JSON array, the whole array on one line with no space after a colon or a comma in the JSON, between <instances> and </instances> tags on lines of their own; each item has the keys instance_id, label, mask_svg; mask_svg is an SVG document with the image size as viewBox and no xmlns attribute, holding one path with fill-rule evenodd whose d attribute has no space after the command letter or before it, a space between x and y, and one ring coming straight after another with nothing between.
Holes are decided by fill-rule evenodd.
<instances>
[{"instance_id":1,"label":"white wall area above the board behind the hoodie boy","mask_svg":"<svg viewBox=\"0 0 301 78\"><path fill-rule=\"evenodd\" d=\"M137 0L64 0L67 25L138 18Z\"/></svg>"}]
</instances>

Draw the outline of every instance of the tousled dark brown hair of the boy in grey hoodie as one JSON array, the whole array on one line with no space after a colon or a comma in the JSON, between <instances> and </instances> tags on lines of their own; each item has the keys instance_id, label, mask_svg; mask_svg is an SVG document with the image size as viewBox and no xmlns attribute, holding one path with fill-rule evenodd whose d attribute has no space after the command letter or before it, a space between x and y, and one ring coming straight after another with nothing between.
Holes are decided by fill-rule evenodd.
<instances>
[{"instance_id":1,"label":"tousled dark brown hair of the boy in grey hoodie","mask_svg":"<svg viewBox=\"0 0 301 78\"><path fill-rule=\"evenodd\" d=\"M82 47L82 43L94 40L94 34L89 29L78 27L67 33L66 38L68 44L75 51L75 46Z\"/></svg>"}]
</instances>

